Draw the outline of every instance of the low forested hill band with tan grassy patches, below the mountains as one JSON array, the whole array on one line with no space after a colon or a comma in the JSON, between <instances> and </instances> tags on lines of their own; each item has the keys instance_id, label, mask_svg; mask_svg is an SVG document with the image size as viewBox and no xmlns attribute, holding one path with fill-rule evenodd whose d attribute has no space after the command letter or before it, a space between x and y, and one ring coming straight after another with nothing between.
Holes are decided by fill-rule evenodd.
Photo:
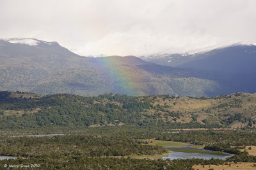
<instances>
[{"instance_id":1,"label":"low forested hill band with tan grassy patches, below the mountains","mask_svg":"<svg viewBox=\"0 0 256 170\"><path fill-rule=\"evenodd\" d=\"M166 126L169 128L255 127L255 94L214 98L169 95L81 97L0 93L0 128L54 126Z\"/></svg>"}]
</instances>

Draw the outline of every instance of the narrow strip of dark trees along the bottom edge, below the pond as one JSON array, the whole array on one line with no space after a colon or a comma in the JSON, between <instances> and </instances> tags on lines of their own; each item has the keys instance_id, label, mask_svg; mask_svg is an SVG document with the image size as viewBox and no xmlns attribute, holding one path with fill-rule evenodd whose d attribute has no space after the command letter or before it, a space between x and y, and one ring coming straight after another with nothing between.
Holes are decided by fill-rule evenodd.
<instances>
[{"instance_id":1,"label":"narrow strip of dark trees along the bottom edge, below the pond","mask_svg":"<svg viewBox=\"0 0 256 170\"><path fill-rule=\"evenodd\" d=\"M223 164L223 160L149 160L135 158L19 158L17 160L1 160L0 167L4 164L15 165L40 165L40 169L192 169L193 164ZM36 168L34 168L36 169Z\"/></svg>"}]
</instances>

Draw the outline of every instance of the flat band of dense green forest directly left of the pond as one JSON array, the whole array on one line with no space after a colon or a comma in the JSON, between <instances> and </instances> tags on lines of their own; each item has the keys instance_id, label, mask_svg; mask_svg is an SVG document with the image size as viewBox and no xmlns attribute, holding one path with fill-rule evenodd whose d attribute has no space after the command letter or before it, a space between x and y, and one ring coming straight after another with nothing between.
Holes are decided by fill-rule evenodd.
<instances>
[{"instance_id":1,"label":"flat band of dense green forest directly left of the pond","mask_svg":"<svg viewBox=\"0 0 256 170\"><path fill-rule=\"evenodd\" d=\"M100 157L155 155L166 152L159 146L136 144L125 136L57 135L53 137L4 137L0 153L19 157Z\"/></svg>"}]
</instances>

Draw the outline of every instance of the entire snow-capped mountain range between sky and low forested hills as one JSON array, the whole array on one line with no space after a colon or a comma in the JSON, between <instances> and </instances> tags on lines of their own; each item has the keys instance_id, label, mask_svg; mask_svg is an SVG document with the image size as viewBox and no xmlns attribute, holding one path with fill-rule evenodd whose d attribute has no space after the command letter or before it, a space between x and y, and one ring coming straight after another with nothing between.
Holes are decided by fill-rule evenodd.
<instances>
[{"instance_id":1,"label":"entire snow-capped mountain range between sky and low forested hills","mask_svg":"<svg viewBox=\"0 0 256 170\"><path fill-rule=\"evenodd\" d=\"M0 90L83 96L254 93L255 64L254 43L197 54L88 58L57 42L10 38L0 40Z\"/></svg>"}]
</instances>

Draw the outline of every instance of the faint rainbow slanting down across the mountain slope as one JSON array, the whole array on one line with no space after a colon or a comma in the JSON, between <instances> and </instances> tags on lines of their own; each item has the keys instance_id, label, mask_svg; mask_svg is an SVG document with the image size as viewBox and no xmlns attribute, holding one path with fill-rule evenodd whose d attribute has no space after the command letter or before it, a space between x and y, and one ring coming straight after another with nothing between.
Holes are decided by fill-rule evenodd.
<instances>
[{"instance_id":1,"label":"faint rainbow slanting down across the mountain slope","mask_svg":"<svg viewBox=\"0 0 256 170\"><path fill-rule=\"evenodd\" d=\"M136 80L132 77L131 72L125 69L125 66L118 65L118 59L114 57L100 58L100 66L105 68L109 79L115 82L113 87L117 87L120 94L125 94L129 96L140 95L139 89L136 87Z\"/></svg>"}]
</instances>

